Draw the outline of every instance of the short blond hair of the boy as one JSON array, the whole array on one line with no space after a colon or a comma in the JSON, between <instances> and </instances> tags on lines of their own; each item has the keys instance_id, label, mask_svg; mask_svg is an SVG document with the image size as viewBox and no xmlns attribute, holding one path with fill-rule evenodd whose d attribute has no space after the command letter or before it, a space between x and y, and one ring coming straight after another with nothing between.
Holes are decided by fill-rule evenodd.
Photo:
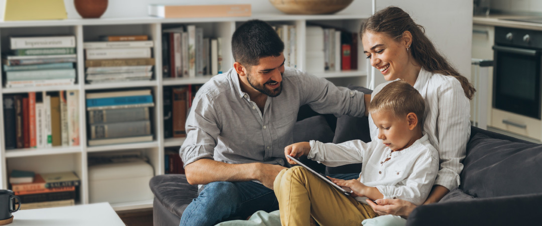
<instances>
[{"instance_id":1,"label":"short blond hair of the boy","mask_svg":"<svg viewBox=\"0 0 542 226\"><path fill-rule=\"evenodd\" d=\"M389 111L401 120L413 112L418 117L418 125L422 125L424 110L425 101L422 95L405 81L395 81L386 85L369 104L369 113Z\"/></svg>"}]
</instances>

